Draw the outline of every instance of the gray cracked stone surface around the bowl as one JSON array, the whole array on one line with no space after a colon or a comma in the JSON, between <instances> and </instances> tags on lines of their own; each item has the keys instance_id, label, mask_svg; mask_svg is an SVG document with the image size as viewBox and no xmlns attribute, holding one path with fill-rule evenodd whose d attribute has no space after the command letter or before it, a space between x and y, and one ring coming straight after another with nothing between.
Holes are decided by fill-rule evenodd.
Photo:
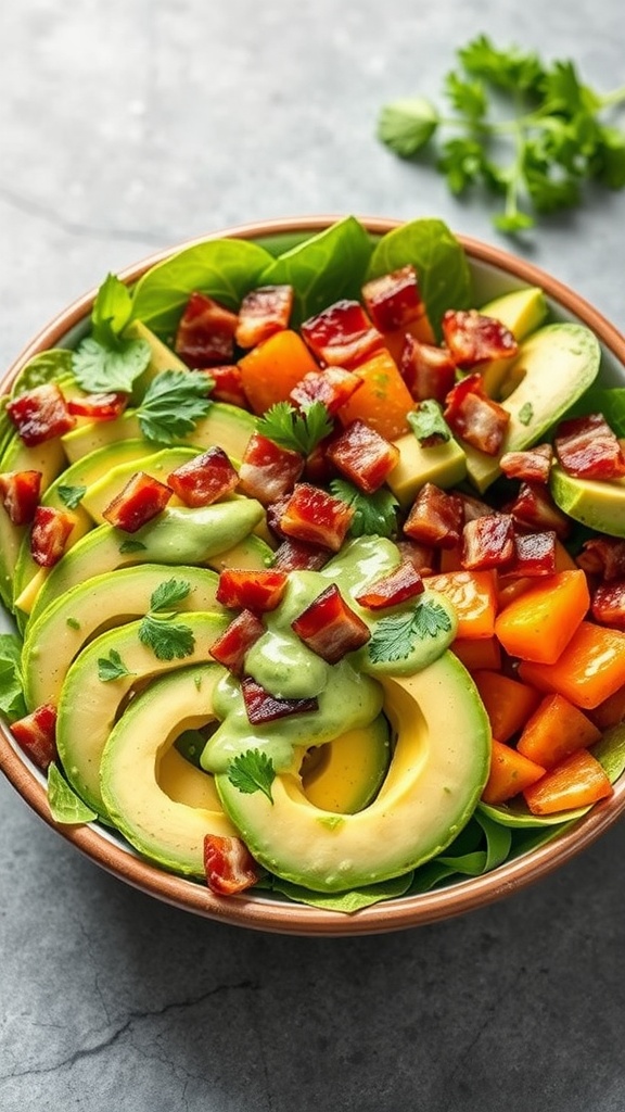
<instances>
[{"instance_id":1,"label":"gray cracked stone surface around the bowl","mask_svg":"<svg viewBox=\"0 0 625 1112\"><path fill-rule=\"evenodd\" d=\"M279 215L436 215L502 242L374 138L478 31L623 83L616 0L6 0L0 365L151 251ZM623 317L625 195L516 250ZM512 249L512 248L510 248ZM0 782L2 1112L622 1112L623 827L448 923L286 939L123 886Z\"/></svg>"}]
</instances>

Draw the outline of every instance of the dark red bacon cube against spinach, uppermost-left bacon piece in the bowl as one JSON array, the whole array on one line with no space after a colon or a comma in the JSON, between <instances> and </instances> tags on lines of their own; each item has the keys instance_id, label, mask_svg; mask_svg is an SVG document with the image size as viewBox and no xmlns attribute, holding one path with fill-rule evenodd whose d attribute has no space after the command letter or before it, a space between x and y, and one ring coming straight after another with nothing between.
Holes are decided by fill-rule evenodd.
<instances>
[{"instance_id":1,"label":"dark red bacon cube against spinach, uppermost-left bacon piece in the bowl","mask_svg":"<svg viewBox=\"0 0 625 1112\"><path fill-rule=\"evenodd\" d=\"M231 363L238 317L211 297L191 294L178 329L173 348L189 367L211 367Z\"/></svg>"}]
</instances>

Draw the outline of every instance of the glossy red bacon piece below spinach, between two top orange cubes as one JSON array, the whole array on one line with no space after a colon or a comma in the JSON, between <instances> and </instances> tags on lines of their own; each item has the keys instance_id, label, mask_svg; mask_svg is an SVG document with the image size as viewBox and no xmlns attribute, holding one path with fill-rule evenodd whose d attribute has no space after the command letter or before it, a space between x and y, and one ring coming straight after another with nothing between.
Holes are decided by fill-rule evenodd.
<instances>
[{"instance_id":1,"label":"glossy red bacon piece below spinach, between two top orange cubes","mask_svg":"<svg viewBox=\"0 0 625 1112\"><path fill-rule=\"evenodd\" d=\"M312 355L328 367L350 370L384 346L384 338L374 328L358 301L335 301L301 325L301 336Z\"/></svg>"}]
</instances>

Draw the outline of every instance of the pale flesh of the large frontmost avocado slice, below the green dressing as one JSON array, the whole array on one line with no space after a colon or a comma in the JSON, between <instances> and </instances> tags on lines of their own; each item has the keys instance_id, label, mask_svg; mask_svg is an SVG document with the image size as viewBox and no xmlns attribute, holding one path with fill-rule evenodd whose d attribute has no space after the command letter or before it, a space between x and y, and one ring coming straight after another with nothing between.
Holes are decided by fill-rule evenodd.
<instances>
[{"instance_id":1,"label":"pale flesh of the large frontmost avocado slice, below the green dressing","mask_svg":"<svg viewBox=\"0 0 625 1112\"><path fill-rule=\"evenodd\" d=\"M473 813L488 775L490 731L482 701L450 652L411 676L381 676L397 732L374 802L351 815L321 811L299 778L276 776L274 803L216 775L224 810L270 872L316 892L399 876L442 853Z\"/></svg>"}]
</instances>

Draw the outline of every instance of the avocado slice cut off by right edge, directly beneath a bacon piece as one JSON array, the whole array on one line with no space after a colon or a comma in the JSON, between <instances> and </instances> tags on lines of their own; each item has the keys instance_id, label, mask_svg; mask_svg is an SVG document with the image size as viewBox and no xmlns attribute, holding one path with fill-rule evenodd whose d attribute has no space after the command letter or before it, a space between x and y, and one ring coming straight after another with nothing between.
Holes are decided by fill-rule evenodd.
<instances>
[{"instance_id":1,"label":"avocado slice cut off by right edge, directly beneath a bacon piece","mask_svg":"<svg viewBox=\"0 0 625 1112\"><path fill-rule=\"evenodd\" d=\"M574 520L613 537L625 537L625 479L576 478L554 464L549 487L556 505Z\"/></svg>"}]
</instances>

